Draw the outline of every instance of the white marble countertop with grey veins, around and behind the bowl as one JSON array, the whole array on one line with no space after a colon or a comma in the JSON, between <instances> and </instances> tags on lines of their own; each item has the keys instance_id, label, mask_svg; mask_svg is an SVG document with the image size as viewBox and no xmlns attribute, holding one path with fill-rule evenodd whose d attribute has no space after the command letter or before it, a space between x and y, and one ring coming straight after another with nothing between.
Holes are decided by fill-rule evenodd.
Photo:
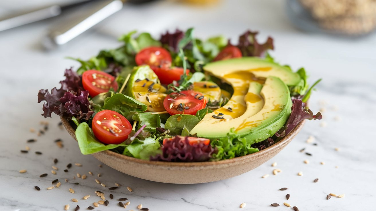
<instances>
[{"instance_id":1,"label":"white marble countertop with grey veins, around and behind the bowl","mask_svg":"<svg viewBox=\"0 0 376 211\"><path fill-rule=\"evenodd\" d=\"M17 3L24 1L9 2L0 3L0 14L18 8ZM52 20L0 32L0 210L64 210L66 204L70 205L69 210L74 210L76 205L86 210L99 200L94 191L105 192L108 199L108 187L113 187L115 182L121 187L112 191L114 200L108 199L109 207L100 205L95 210L137 210L140 203L152 211L292 210L284 202L297 206L300 211L374 210L376 36L344 39L300 32L287 20L283 6L277 0L227 1L209 8L183 7L163 1L127 6L53 52L43 51L39 44ZM190 26L195 26L197 36L202 37L223 33L235 38L248 28L261 31L261 39L273 36L276 49L272 54L277 61L290 64L295 70L304 66L311 82L323 78L311 98L313 111L325 110L323 120L308 121L284 150L248 173L207 184L176 185L134 178L106 165L100 168L98 160L82 155L77 143L58 127L58 116L44 119L40 115L42 105L36 103L38 90L55 87L63 78L65 68L78 66L64 59L65 56L87 59L100 49L118 46L115 38L133 29L158 35L165 29ZM37 136L43 128L40 121L48 121L49 128L44 135ZM31 128L37 132L30 132ZM311 135L317 146L306 143ZM30 138L37 141L27 143ZM54 142L58 138L63 148ZM26 146L30 147L29 153L21 153ZM312 156L299 152L302 148ZM42 155L36 155L36 151ZM55 158L57 164L53 163ZM306 159L309 164L303 162ZM277 162L276 167L271 167L273 162ZM82 167L73 165L69 172L64 172L68 163L81 163ZM52 165L59 168L56 175L51 173ZM282 172L273 175L274 168ZM18 172L21 169L27 172L21 174ZM303 172L303 176L298 176L298 172ZM42 173L48 176L40 178ZM76 173L87 178L73 179ZM98 173L102 174L100 178ZM261 178L265 174L270 176ZM107 187L97 184L95 178ZM316 178L319 181L314 183ZM46 190L54 179L59 179L61 186ZM41 190L36 191L34 186ZM126 187L131 187L133 192ZM288 190L280 191L283 187ZM76 192L70 193L69 188ZM345 194L345 197L327 200L329 193ZM88 194L91 197L83 200ZM286 194L291 195L289 200ZM126 209L120 208L115 200L122 197L131 202ZM72 198L79 202L72 202ZM246 206L241 209L243 202ZM272 207L271 203L281 206Z\"/></svg>"}]
</instances>

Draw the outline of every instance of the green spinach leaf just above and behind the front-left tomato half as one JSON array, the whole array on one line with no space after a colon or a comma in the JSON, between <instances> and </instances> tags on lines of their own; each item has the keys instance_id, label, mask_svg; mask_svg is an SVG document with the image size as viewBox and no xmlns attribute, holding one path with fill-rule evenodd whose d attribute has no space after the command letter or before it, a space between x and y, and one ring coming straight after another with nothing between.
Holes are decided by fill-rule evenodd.
<instances>
[{"instance_id":1,"label":"green spinach leaf just above and behind the front-left tomato half","mask_svg":"<svg viewBox=\"0 0 376 211\"><path fill-rule=\"evenodd\" d=\"M131 111L144 112L146 111L147 106L132 97L117 93L110 97L102 108L116 111L126 117L127 120L131 121L133 115L129 115Z\"/></svg>"}]
</instances>

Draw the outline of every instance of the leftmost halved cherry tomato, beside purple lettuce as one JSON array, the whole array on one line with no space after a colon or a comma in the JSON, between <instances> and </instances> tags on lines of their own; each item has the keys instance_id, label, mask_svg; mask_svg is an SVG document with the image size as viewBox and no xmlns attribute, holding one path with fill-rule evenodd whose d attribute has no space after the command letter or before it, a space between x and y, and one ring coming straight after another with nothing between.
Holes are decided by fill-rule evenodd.
<instances>
[{"instance_id":1,"label":"leftmost halved cherry tomato, beside purple lettuce","mask_svg":"<svg viewBox=\"0 0 376 211\"><path fill-rule=\"evenodd\" d=\"M89 91L91 97L95 97L103 92L108 92L110 88L113 88L115 91L118 89L118 84L114 76L98 70L83 72L82 85L85 90Z\"/></svg>"}]
</instances>

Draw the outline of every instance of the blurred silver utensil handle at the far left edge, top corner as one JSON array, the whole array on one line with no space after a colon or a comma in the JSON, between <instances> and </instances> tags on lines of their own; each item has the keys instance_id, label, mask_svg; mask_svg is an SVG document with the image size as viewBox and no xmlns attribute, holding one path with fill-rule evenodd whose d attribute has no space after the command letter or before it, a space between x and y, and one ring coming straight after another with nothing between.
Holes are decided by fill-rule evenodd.
<instances>
[{"instance_id":1,"label":"blurred silver utensil handle at the far left edge, top corner","mask_svg":"<svg viewBox=\"0 0 376 211\"><path fill-rule=\"evenodd\" d=\"M35 21L52 18L61 14L61 6L53 5L35 11L27 11L9 15L0 19L0 31L22 26Z\"/></svg>"}]
</instances>

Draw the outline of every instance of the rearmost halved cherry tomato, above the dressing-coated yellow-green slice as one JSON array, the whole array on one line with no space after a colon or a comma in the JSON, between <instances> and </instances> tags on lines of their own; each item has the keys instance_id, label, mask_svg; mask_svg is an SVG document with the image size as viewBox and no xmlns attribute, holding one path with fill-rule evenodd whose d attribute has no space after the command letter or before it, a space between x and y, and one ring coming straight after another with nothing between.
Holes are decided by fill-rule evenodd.
<instances>
[{"instance_id":1,"label":"rearmost halved cherry tomato, above the dressing-coated yellow-green slice","mask_svg":"<svg viewBox=\"0 0 376 211\"><path fill-rule=\"evenodd\" d=\"M171 55L168 51L161 47L148 47L136 54L135 57L137 65L149 65L150 68L155 70L163 62L169 62L171 64Z\"/></svg>"}]
</instances>

